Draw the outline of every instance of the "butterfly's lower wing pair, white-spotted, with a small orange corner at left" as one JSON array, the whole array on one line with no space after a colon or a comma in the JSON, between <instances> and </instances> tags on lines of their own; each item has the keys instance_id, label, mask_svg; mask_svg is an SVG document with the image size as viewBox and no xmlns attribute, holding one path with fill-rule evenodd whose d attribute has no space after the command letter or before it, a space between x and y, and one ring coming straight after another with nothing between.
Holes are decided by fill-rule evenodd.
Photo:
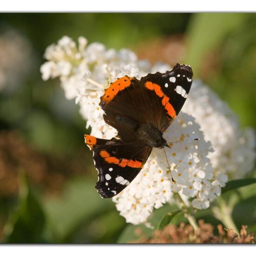
<instances>
[{"instance_id":1,"label":"butterfly's lower wing pair, white-spotted, with a small orange corner at left","mask_svg":"<svg viewBox=\"0 0 256 256\"><path fill-rule=\"evenodd\" d=\"M138 175L152 150L138 142L104 140L90 135L85 135L85 142L93 151L98 170L95 188L103 198L113 197L125 189Z\"/></svg>"}]
</instances>

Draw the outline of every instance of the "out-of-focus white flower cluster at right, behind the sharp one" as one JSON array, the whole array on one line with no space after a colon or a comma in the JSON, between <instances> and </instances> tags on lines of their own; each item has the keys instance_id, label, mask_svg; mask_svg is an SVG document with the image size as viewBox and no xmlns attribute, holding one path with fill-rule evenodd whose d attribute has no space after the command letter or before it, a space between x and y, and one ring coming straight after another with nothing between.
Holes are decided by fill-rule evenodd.
<instances>
[{"instance_id":1,"label":"out-of-focus white flower cluster at right, behind the sharp one","mask_svg":"<svg viewBox=\"0 0 256 256\"><path fill-rule=\"evenodd\" d=\"M216 171L228 174L230 179L243 178L252 171L256 158L254 130L241 129L236 115L213 91L194 81L182 110L195 117L205 140L211 141L214 151L209 158Z\"/></svg>"}]
</instances>

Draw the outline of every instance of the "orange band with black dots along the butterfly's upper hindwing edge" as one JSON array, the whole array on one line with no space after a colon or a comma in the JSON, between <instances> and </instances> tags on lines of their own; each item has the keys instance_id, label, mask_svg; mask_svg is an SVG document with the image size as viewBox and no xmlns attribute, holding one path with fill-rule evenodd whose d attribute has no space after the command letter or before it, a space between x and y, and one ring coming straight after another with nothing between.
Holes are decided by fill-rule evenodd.
<instances>
[{"instance_id":1,"label":"orange band with black dots along the butterfly's upper hindwing edge","mask_svg":"<svg viewBox=\"0 0 256 256\"><path fill-rule=\"evenodd\" d=\"M132 77L124 76L118 78L115 82L111 83L109 87L105 90L101 101L112 101L116 94L118 94L123 89L127 88L131 84Z\"/></svg>"}]
</instances>

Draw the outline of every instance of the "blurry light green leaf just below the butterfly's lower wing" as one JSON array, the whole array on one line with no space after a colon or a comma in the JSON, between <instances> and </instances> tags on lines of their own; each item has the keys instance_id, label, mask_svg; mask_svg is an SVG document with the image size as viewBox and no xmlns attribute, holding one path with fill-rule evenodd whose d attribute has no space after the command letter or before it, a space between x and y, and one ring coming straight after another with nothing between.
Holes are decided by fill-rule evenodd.
<instances>
[{"instance_id":1,"label":"blurry light green leaf just below the butterfly's lower wing","mask_svg":"<svg viewBox=\"0 0 256 256\"><path fill-rule=\"evenodd\" d=\"M89 225L102 213L115 208L111 199L102 199L94 186L95 181L79 177L68 181L60 196L44 198L54 242L70 243L82 225Z\"/></svg>"}]
</instances>

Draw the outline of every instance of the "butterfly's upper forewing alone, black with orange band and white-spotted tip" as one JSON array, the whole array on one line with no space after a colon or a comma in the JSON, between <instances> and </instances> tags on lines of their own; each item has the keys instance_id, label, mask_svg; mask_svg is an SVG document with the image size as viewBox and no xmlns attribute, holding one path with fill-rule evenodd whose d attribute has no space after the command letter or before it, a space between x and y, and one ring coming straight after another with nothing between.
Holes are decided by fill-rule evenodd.
<instances>
[{"instance_id":1,"label":"butterfly's upper forewing alone, black with orange band and white-spotted tip","mask_svg":"<svg viewBox=\"0 0 256 256\"><path fill-rule=\"evenodd\" d=\"M193 71L189 65L176 64L166 73L148 74L141 78L141 84L147 88L146 94L154 109L157 103L160 114L157 116L157 128L163 132L176 118L184 105L193 81ZM153 100L154 99L154 100Z\"/></svg>"}]
</instances>

